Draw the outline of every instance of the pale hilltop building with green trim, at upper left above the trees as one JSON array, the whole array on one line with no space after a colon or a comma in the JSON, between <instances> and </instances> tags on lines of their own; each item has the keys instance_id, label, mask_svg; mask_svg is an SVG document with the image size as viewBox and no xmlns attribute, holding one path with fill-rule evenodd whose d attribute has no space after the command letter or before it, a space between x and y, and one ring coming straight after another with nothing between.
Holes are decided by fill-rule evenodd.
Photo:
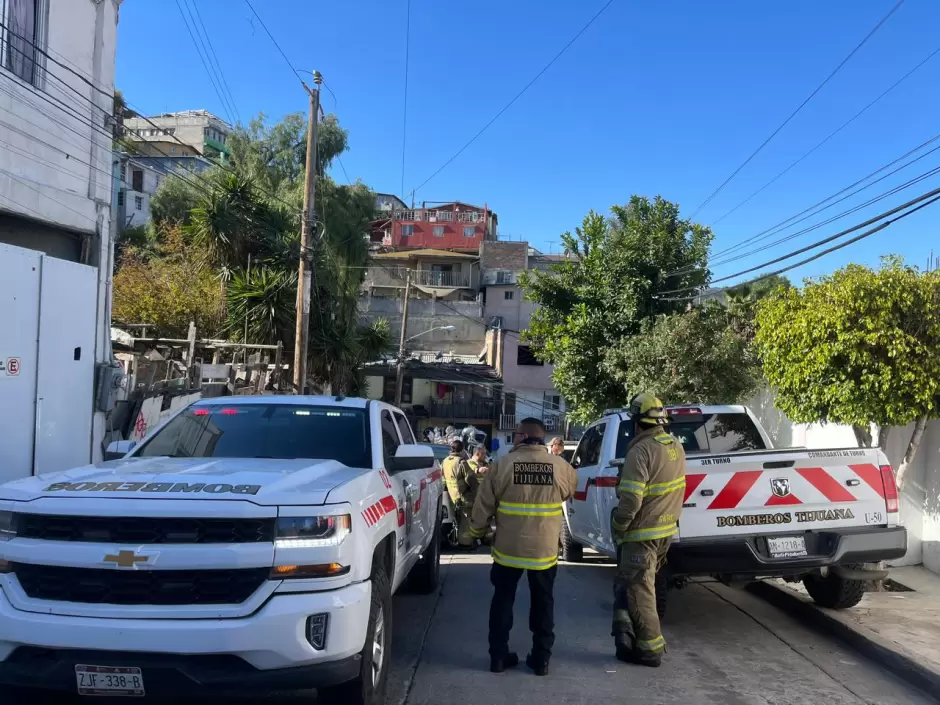
<instances>
[{"instance_id":1,"label":"pale hilltop building with green trim, at upper left above the trees","mask_svg":"<svg viewBox=\"0 0 940 705\"><path fill-rule=\"evenodd\" d=\"M125 118L124 130L127 141L144 156L202 156L225 162L230 153L232 126L208 110Z\"/></svg>"}]
</instances>

